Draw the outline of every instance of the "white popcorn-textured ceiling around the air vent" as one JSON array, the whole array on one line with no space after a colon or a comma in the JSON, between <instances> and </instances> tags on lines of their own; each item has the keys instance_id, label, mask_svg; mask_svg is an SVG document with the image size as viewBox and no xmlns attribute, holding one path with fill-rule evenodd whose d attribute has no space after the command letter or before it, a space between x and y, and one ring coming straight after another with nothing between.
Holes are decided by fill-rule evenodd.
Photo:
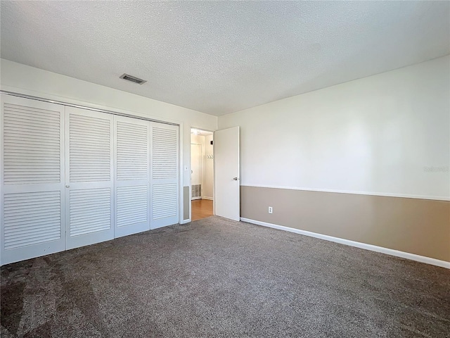
<instances>
[{"instance_id":1,"label":"white popcorn-textured ceiling around the air vent","mask_svg":"<svg viewBox=\"0 0 450 338\"><path fill-rule=\"evenodd\" d=\"M2 58L223 115L449 54L450 2L1 1L0 37Z\"/></svg>"}]
</instances>

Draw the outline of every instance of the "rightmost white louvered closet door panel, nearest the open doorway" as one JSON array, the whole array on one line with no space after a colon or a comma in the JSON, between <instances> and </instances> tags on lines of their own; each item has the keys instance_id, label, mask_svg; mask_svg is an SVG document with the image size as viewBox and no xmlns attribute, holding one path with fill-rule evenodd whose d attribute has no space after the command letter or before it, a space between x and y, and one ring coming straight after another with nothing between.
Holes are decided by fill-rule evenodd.
<instances>
[{"instance_id":1,"label":"rightmost white louvered closet door panel, nearest the open doorway","mask_svg":"<svg viewBox=\"0 0 450 338\"><path fill-rule=\"evenodd\" d=\"M150 228L179 223L179 127L150 123Z\"/></svg>"}]
</instances>

